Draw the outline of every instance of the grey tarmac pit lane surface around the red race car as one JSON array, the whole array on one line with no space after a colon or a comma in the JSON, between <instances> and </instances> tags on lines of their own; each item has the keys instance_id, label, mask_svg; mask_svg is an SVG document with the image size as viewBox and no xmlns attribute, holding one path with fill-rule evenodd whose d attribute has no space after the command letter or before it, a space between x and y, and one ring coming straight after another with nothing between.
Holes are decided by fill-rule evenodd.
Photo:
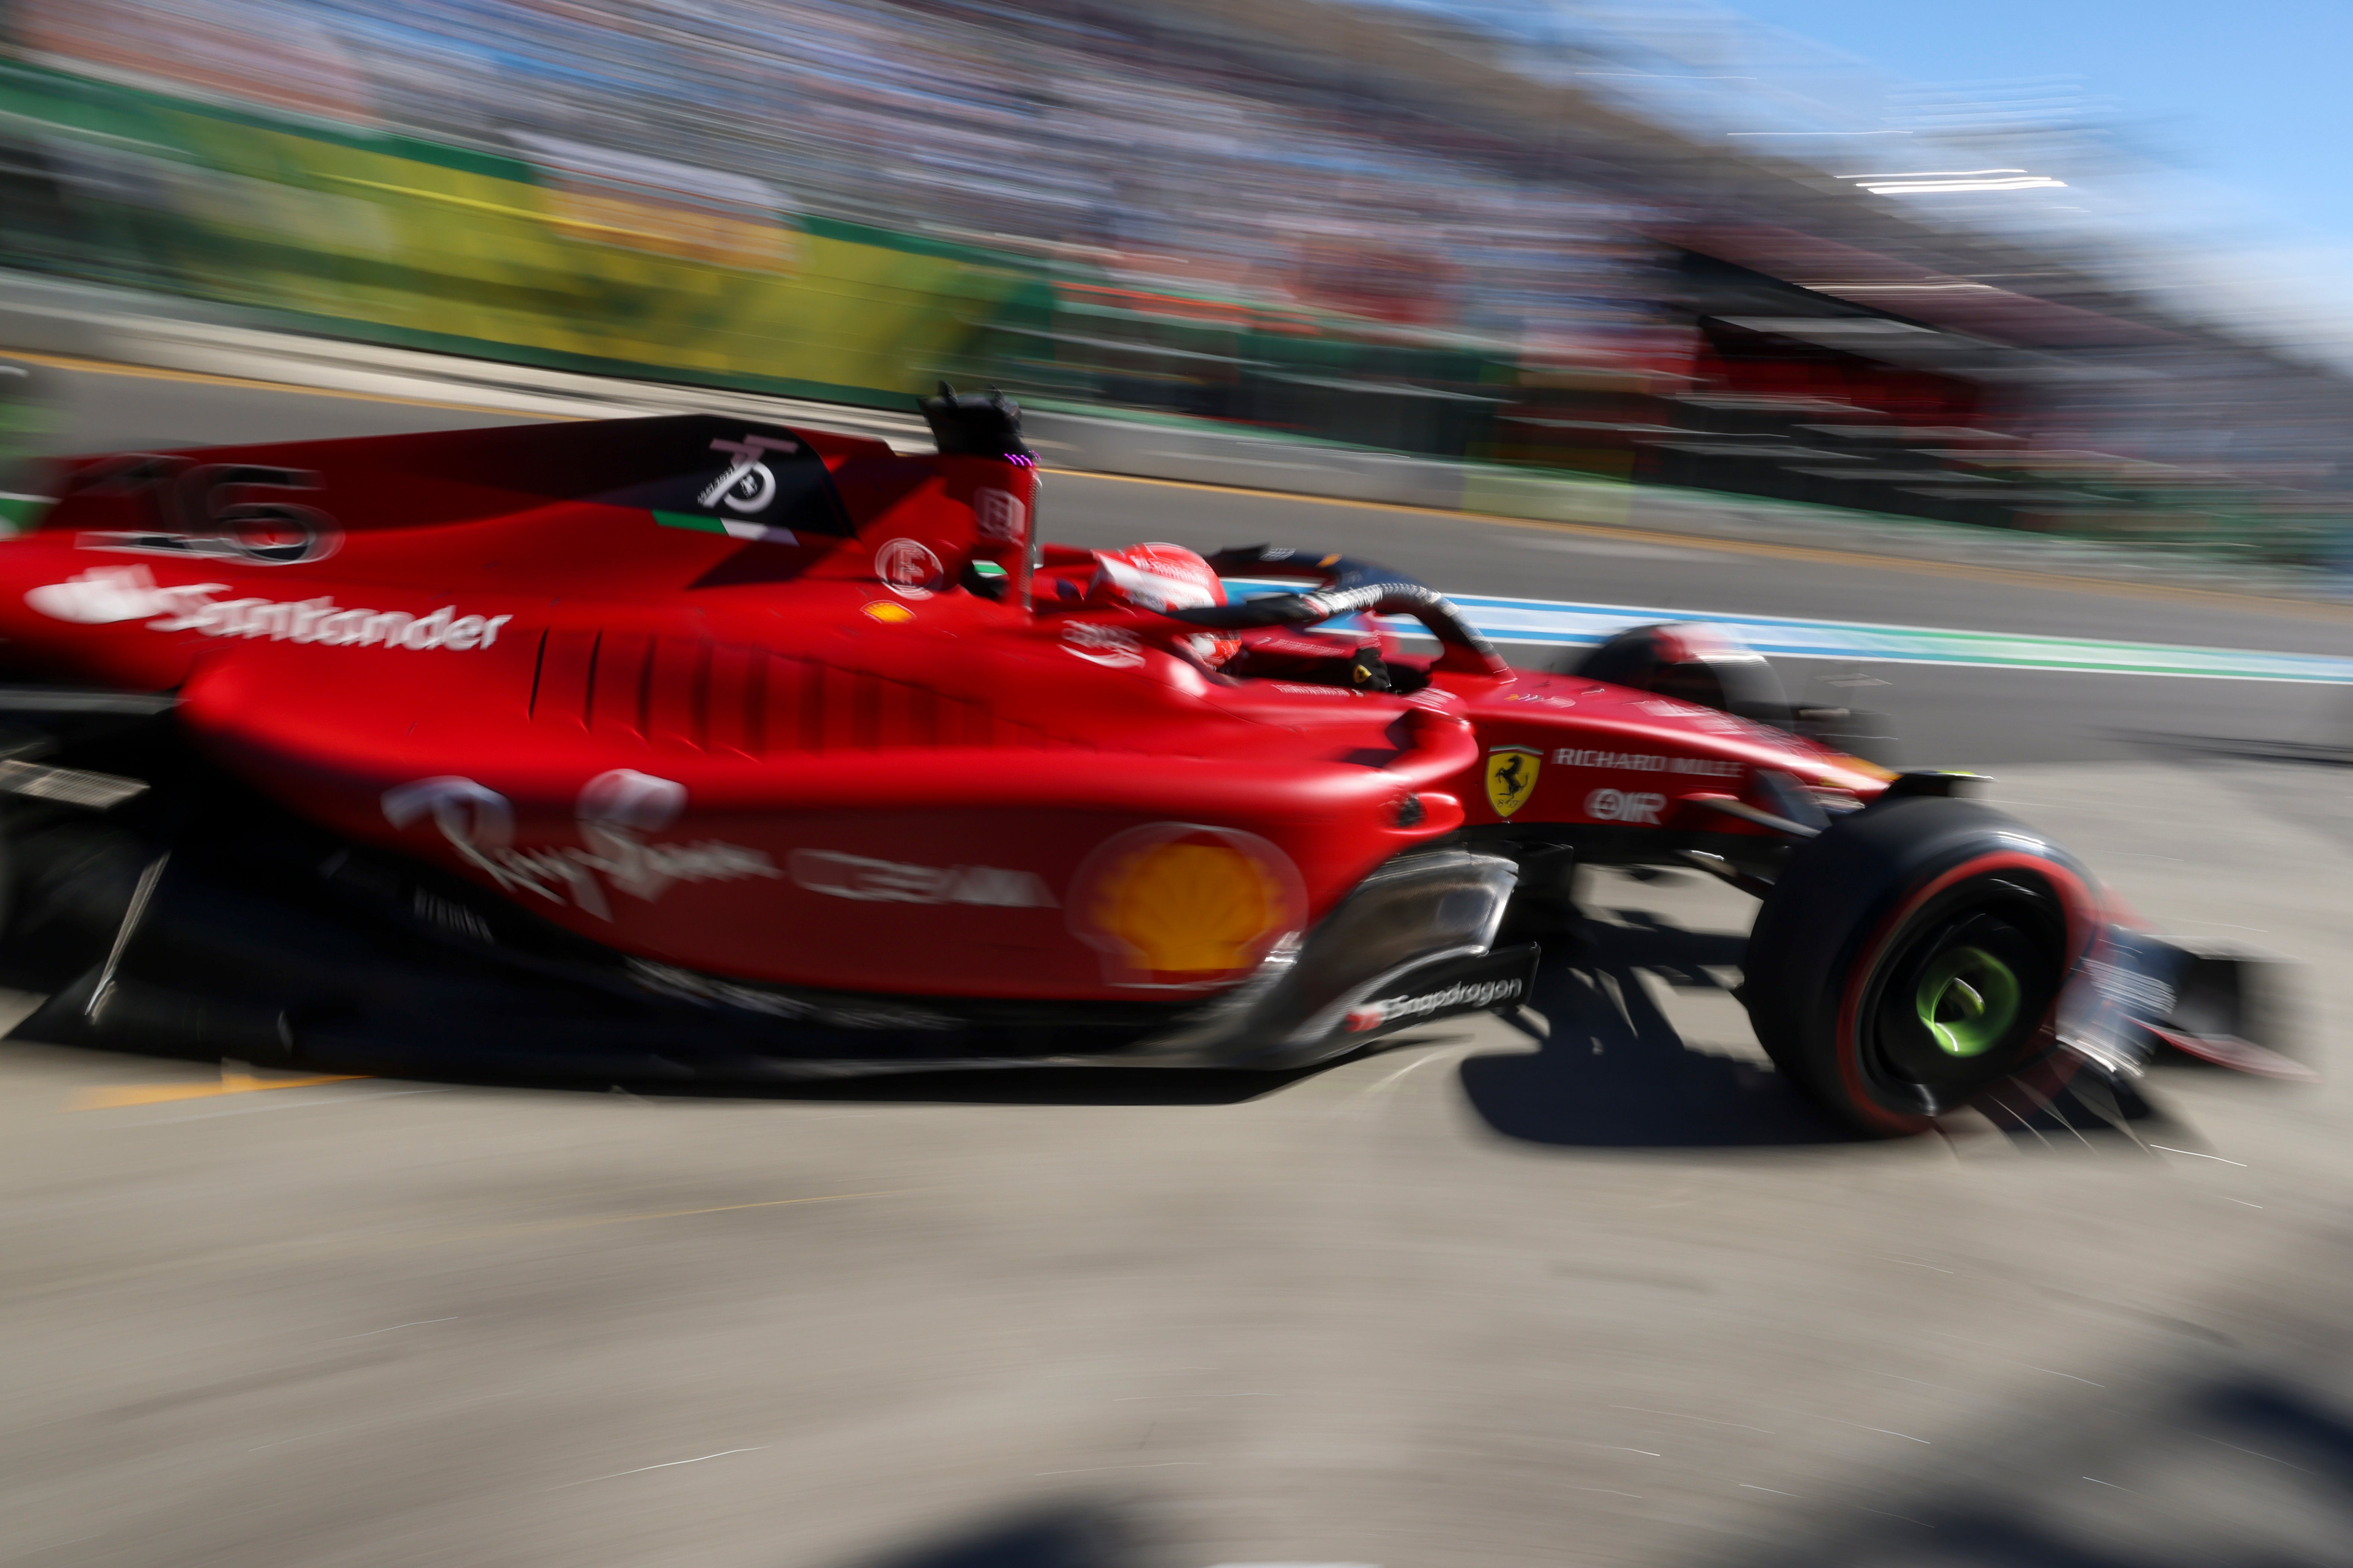
<instances>
[{"instance_id":1,"label":"grey tarmac pit lane surface around the red race car","mask_svg":"<svg viewBox=\"0 0 2353 1568\"><path fill-rule=\"evenodd\" d=\"M480 423L75 397L78 447ZM2346 642L2311 607L1049 487L1059 538L1339 543L1466 592ZM1974 752L1922 759L2000 762L1995 804L2158 929L2306 964L2327 1072L2344 693L1934 675L1887 679ZM1435 1025L1275 1081L654 1095L9 1041L0 1563L2353 1563L2334 1079L2167 1070L2120 1126L1852 1143L1725 990L1741 896L1581 903L1544 1046Z\"/></svg>"}]
</instances>

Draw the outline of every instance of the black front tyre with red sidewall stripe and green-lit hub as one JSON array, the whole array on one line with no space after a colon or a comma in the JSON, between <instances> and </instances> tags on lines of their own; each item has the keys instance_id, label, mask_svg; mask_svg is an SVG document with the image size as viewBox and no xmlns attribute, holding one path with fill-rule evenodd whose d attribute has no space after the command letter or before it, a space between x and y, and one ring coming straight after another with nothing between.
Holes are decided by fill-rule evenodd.
<instances>
[{"instance_id":1,"label":"black front tyre with red sidewall stripe and green-lit hub","mask_svg":"<svg viewBox=\"0 0 2353 1568\"><path fill-rule=\"evenodd\" d=\"M1939 1114L2057 1067L2057 1004L2099 931L2066 851L1965 799L1857 811L1791 856L1741 999L1774 1067L1852 1126Z\"/></svg>"}]
</instances>

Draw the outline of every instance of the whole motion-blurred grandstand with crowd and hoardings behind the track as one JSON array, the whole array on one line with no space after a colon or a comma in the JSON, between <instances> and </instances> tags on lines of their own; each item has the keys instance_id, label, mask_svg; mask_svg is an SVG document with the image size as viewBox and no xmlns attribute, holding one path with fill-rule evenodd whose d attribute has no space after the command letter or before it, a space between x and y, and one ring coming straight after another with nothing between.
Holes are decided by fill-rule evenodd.
<instances>
[{"instance_id":1,"label":"whole motion-blurred grandstand with crowd and hoardings behind the track","mask_svg":"<svg viewBox=\"0 0 2353 1568\"><path fill-rule=\"evenodd\" d=\"M1765 150L1849 134L1819 101L1734 139L1722 94L1631 89L1687 78L1624 28L1341 0L5 16L5 266L678 381L894 402L951 374L2275 564L2344 538L2332 374L2134 296L2082 237ZM1934 146L2057 183L2007 169L2017 136Z\"/></svg>"}]
</instances>

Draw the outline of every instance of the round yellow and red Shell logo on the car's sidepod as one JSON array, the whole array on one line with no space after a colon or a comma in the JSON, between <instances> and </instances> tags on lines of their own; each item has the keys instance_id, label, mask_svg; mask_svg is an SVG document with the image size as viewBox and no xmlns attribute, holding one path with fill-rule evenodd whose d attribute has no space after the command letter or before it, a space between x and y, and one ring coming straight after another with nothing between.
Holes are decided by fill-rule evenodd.
<instances>
[{"instance_id":1,"label":"round yellow and red Shell logo on the car's sidepod","mask_svg":"<svg viewBox=\"0 0 2353 1568\"><path fill-rule=\"evenodd\" d=\"M1096 846L1071 879L1071 931L1113 985L1240 980L1306 924L1289 856L1235 827L1148 823Z\"/></svg>"}]
</instances>

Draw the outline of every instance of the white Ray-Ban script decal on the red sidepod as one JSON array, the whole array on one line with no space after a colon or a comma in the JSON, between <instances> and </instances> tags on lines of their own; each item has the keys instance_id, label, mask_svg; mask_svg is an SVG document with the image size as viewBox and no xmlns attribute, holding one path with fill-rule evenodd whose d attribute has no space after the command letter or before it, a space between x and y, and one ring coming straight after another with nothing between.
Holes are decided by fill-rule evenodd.
<instances>
[{"instance_id":1,"label":"white Ray-Ban script decal on the red sidepod","mask_svg":"<svg viewBox=\"0 0 2353 1568\"><path fill-rule=\"evenodd\" d=\"M572 903L598 919L612 919L605 889L647 903L678 882L739 882L781 877L767 851L722 839L654 844L659 832L687 809L687 788L635 769L612 769L591 778L579 795L579 846L515 849L513 804L471 778L442 773L384 792L384 818L393 827L431 816L461 860L513 893L548 903Z\"/></svg>"}]
</instances>

